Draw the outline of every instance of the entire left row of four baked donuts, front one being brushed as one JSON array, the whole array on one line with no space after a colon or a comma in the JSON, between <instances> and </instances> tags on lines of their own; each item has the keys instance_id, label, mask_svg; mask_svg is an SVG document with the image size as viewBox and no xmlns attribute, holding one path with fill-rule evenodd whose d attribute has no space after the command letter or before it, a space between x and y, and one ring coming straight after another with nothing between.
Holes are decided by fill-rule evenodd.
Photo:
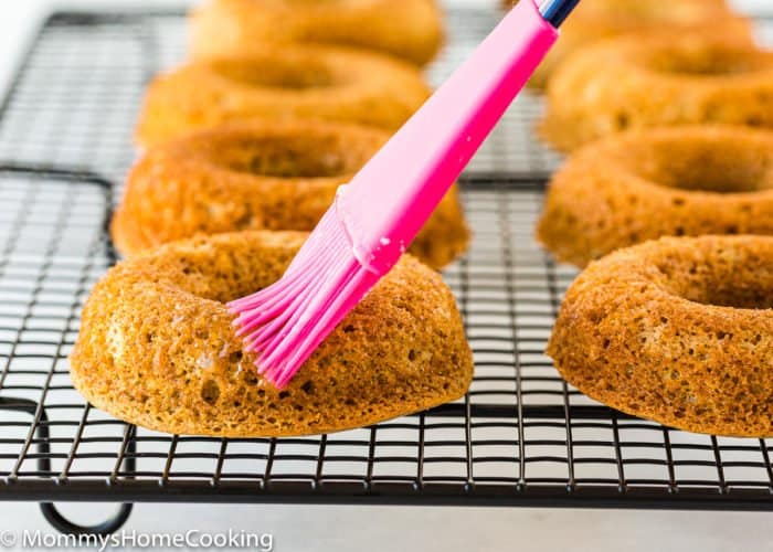
<instances>
[{"instance_id":1,"label":"entire left row of four baked donuts, front one being brushed","mask_svg":"<svg viewBox=\"0 0 773 552\"><path fill-rule=\"evenodd\" d=\"M416 65L441 42L434 0L211 0L191 23L194 60L157 78L140 114L146 151L112 223L130 258L84 307L76 389L155 431L229 437L342 431L464 395L453 294L412 257L283 390L225 306L279 278L305 240L292 231L430 95ZM437 268L467 240L454 191L411 252Z\"/></svg>"}]
</instances>

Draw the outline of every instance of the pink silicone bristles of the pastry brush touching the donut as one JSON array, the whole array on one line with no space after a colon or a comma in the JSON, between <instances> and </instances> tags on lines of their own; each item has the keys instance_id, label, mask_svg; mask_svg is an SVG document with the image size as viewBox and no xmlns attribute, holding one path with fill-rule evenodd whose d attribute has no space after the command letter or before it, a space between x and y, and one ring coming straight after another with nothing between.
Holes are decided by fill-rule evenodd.
<instances>
[{"instance_id":1,"label":"pink silicone bristles of the pastry brush touching the donut","mask_svg":"<svg viewBox=\"0 0 773 552\"><path fill-rule=\"evenodd\" d=\"M333 205L278 282L229 308L258 373L282 389L378 279L354 258Z\"/></svg>"}]
</instances>

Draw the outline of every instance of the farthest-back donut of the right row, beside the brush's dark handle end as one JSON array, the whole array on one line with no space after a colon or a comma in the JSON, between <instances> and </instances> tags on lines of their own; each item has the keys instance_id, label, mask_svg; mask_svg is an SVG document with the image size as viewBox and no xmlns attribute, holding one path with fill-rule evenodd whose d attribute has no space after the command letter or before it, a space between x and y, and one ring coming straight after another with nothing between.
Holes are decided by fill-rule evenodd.
<instances>
[{"instance_id":1,"label":"farthest-back donut of the right row, beside the brush's dark handle end","mask_svg":"<svg viewBox=\"0 0 773 552\"><path fill-rule=\"evenodd\" d=\"M689 30L741 38L752 34L750 21L733 14L724 0L582 0L561 25L561 38L529 85L543 88L563 60L599 40L627 33L671 36Z\"/></svg>"}]
</instances>

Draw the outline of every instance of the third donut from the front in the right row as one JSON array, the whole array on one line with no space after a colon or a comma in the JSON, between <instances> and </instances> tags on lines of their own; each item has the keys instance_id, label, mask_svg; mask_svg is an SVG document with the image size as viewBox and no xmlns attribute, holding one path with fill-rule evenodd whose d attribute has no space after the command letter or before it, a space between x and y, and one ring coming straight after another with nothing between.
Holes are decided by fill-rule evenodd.
<instances>
[{"instance_id":1,"label":"third donut from the front in the right row","mask_svg":"<svg viewBox=\"0 0 773 552\"><path fill-rule=\"evenodd\" d=\"M550 79L541 131L572 150L626 129L687 124L772 127L773 52L714 34L600 42Z\"/></svg>"}]
</instances>

